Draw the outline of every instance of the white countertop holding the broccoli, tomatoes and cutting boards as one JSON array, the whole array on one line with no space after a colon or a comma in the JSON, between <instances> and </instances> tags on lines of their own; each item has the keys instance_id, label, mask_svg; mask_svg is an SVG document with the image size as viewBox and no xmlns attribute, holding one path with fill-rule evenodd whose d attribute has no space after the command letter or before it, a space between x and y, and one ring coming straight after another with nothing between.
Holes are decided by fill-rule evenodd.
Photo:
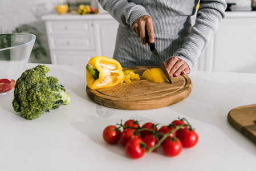
<instances>
[{"instance_id":1,"label":"white countertop holding the broccoli, tomatoes and cutting boards","mask_svg":"<svg viewBox=\"0 0 256 171\"><path fill-rule=\"evenodd\" d=\"M27 68L35 64L28 64ZM169 107L124 111L101 107L86 94L85 67L47 65L71 95L71 102L26 120L11 105L13 92L0 96L0 170L255 170L256 145L234 129L227 113L256 103L256 74L194 71L190 95ZM107 118L100 112L109 112ZM121 145L102 139L120 119L169 124L185 117L196 128L196 146L177 157L161 152L132 160Z\"/></svg>"}]
</instances>

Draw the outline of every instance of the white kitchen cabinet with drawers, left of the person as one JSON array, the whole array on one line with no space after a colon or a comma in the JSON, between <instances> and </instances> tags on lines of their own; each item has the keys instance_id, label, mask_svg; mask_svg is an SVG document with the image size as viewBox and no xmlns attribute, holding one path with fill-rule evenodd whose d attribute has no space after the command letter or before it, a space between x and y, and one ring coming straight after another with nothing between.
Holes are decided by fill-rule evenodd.
<instances>
[{"instance_id":1,"label":"white kitchen cabinet with drawers, left of the person","mask_svg":"<svg viewBox=\"0 0 256 171\"><path fill-rule=\"evenodd\" d=\"M112 58L119 24L108 14L46 15L52 64L85 66L94 56Z\"/></svg>"}]
</instances>

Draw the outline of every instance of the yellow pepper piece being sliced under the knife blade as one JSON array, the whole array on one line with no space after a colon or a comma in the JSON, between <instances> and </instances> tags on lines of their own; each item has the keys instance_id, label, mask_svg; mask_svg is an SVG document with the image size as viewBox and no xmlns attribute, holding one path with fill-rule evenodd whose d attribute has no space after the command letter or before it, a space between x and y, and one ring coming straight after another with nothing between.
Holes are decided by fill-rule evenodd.
<instances>
[{"instance_id":1,"label":"yellow pepper piece being sliced under the knife blade","mask_svg":"<svg viewBox=\"0 0 256 171\"><path fill-rule=\"evenodd\" d=\"M151 68L143 72L143 78L154 82L154 83L162 83L167 81L168 79L164 75L164 71L161 68Z\"/></svg>"}]
</instances>

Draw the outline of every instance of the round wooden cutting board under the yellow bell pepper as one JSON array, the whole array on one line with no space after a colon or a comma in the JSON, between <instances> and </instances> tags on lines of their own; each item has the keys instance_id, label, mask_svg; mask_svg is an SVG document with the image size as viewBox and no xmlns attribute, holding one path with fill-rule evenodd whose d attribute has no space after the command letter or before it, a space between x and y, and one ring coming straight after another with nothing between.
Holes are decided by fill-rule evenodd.
<instances>
[{"instance_id":1,"label":"round wooden cutting board under the yellow bell pepper","mask_svg":"<svg viewBox=\"0 0 256 171\"><path fill-rule=\"evenodd\" d=\"M127 67L140 76L152 67ZM166 107L184 100L192 91L192 82L187 75L172 78L169 82L153 83L148 80L136 80L132 84L121 83L115 87L92 90L86 87L87 95L95 103L105 107L145 110Z\"/></svg>"}]
</instances>

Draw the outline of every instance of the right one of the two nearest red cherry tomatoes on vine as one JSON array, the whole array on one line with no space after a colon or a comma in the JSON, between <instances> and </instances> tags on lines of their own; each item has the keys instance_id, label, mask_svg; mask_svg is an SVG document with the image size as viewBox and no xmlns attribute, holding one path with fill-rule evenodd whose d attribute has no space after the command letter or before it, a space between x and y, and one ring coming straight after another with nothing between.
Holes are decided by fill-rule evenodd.
<instances>
[{"instance_id":1,"label":"right one of the two nearest red cherry tomatoes on vine","mask_svg":"<svg viewBox=\"0 0 256 171\"><path fill-rule=\"evenodd\" d=\"M162 142L162 149L167 156L177 156L182 150L182 143L179 139L176 139L175 141L168 137L164 142Z\"/></svg>"}]
</instances>

